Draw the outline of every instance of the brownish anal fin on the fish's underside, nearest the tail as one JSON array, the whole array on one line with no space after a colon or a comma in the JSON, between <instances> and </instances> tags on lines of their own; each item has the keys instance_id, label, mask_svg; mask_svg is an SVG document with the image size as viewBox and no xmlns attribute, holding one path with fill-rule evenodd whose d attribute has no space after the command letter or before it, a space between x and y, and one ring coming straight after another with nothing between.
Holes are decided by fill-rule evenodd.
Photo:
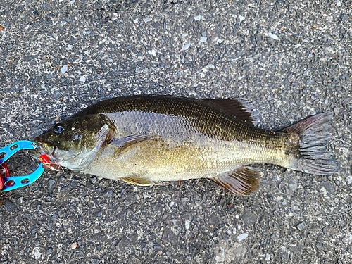
<instances>
[{"instance_id":1,"label":"brownish anal fin on the fish's underside, nearest the tail","mask_svg":"<svg viewBox=\"0 0 352 264\"><path fill-rule=\"evenodd\" d=\"M259 172L248 167L241 167L210 179L237 195L251 195L258 190L260 184Z\"/></svg>"}]
</instances>

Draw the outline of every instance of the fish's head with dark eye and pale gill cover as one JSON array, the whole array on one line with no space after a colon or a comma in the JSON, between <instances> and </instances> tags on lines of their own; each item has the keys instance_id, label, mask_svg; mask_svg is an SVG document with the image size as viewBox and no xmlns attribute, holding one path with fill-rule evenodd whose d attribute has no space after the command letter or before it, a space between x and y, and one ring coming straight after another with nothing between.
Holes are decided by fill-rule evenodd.
<instances>
[{"instance_id":1,"label":"fish's head with dark eye and pale gill cover","mask_svg":"<svg viewBox=\"0 0 352 264\"><path fill-rule=\"evenodd\" d=\"M110 134L110 122L103 115L68 118L36 137L38 148L30 155L37 158L45 154L52 164L83 170L108 142Z\"/></svg>"}]
</instances>

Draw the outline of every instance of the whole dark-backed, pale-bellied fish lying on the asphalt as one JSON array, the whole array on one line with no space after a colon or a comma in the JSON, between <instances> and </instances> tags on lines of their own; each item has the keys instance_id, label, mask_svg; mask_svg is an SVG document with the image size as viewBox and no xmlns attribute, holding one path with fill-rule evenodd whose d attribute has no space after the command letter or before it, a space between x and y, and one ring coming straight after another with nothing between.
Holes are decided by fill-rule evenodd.
<instances>
[{"instance_id":1,"label":"whole dark-backed, pale-bellied fish lying on the asphalt","mask_svg":"<svg viewBox=\"0 0 352 264\"><path fill-rule=\"evenodd\" d=\"M238 99L135 95L99 101L34 139L51 164L151 186L208 178L236 195L260 186L253 165L268 163L313 175L339 165L326 148L332 113L279 131L256 126Z\"/></svg>"}]
</instances>

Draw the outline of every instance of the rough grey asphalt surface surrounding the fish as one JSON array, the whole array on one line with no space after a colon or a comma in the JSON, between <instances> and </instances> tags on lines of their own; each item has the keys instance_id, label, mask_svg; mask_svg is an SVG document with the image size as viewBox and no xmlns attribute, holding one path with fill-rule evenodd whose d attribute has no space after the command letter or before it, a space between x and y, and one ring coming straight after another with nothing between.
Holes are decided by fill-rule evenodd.
<instances>
[{"instance_id":1,"label":"rough grey asphalt surface surrounding the fish","mask_svg":"<svg viewBox=\"0 0 352 264\"><path fill-rule=\"evenodd\" d=\"M4 2L5 3L5 2ZM333 113L341 171L256 165L258 193L65 170L0 194L0 263L351 263L352 3L7 0L1 146L129 94L236 97L279 129ZM37 165L20 153L11 171Z\"/></svg>"}]
</instances>

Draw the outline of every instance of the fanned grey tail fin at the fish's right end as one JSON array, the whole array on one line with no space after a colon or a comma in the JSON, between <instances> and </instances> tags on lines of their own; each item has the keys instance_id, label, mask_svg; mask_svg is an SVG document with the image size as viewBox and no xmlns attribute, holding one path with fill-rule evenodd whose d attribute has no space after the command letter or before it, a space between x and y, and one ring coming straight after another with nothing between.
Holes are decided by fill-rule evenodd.
<instances>
[{"instance_id":1,"label":"fanned grey tail fin at the fish's right end","mask_svg":"<svg viewBox=\"0 0 352 264\"><path fill-rule=\"evenodd\" d=\"M331 175L339 171L339 165L325 148L331 120L331 113L318 113L282 130L297 134L299 138L299 152L290 166L292 170L317 175Z\"/></svg>"}]
</instances>

